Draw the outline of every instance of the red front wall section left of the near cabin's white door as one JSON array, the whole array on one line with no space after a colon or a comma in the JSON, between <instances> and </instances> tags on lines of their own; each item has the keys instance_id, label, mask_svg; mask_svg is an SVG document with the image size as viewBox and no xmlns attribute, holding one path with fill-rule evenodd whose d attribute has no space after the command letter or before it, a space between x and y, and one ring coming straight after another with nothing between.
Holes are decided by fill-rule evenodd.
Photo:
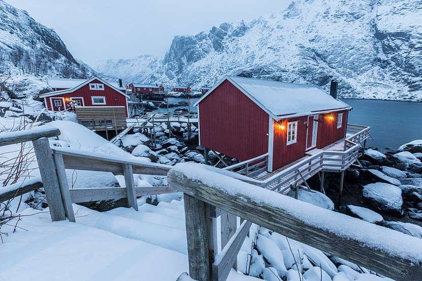
<instances>
[{"instance_id":1,"label":"red front wall section left of the near cabin's white door","mask_svg":"<svg viewBox=\"0 0 422 281\"><path fill-rule=\"evenodd\" d=\"M274 126L273 170L305 156L308 116L280 120ZM287 123L297 122L297 141L287 145ZM279 128L283 124L285 129Z\"/></svg>"}]
</instances>

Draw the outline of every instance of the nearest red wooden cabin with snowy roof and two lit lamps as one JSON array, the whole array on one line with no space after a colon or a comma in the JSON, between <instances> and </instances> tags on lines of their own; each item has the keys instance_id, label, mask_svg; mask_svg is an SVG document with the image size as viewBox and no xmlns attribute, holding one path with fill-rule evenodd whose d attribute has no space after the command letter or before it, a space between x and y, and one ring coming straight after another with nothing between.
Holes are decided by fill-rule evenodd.
<instances>
[{"instance_id":1,"label":"nearest red wooden cabin with snowy roof and two lit lamps","mask_svg":"<svg viewBox=\"0 0 422 281\"><path fill-rule=\"evenodd\" d=\"M344 138L352 109L316 86L235 76L195 105L199 145L239 161L268 152L269 172Z\"/></svg>"}]
</instances>

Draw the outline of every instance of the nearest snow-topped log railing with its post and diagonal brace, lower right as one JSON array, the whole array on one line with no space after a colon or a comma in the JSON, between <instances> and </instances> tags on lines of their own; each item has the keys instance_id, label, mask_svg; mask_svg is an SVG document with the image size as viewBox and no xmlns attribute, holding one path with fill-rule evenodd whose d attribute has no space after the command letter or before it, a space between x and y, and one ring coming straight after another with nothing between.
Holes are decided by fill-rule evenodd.
<instances>
[{"instance_id":1,"label":"nearest snow-topped log railing with its post and diagonal brace, lower right","mask_svg":"<svg viewBox=\"0 0 422 281\"><path fill-rule=\"evenodd\" d=\"M254 223L397 281L420 280L421 239L263 190L221 172L184 163L167 174L169 184L184 192L191 278L226 280L246 229ZM218 255L210 224L213 208L247 220Z\"/></svg>"}]
</instances>

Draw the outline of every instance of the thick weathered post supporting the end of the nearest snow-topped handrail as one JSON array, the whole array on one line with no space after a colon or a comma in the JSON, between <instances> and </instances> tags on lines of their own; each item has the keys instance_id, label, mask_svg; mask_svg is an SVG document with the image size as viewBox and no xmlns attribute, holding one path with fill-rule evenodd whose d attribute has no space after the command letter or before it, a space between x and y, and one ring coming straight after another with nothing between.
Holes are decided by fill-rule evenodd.
<instances>
[{"instance_id":1,"label":"thick weathered post supporting the end of the nearest snow-topped handrail","mask_svg":"<svg viewBox=\"0 0 422 281\"><path fill-rule=\"evenodd\" d=\"M205 203L184 194L189 274L198 281L210 281L208 229Z\"/></svg>"}]
</instances>

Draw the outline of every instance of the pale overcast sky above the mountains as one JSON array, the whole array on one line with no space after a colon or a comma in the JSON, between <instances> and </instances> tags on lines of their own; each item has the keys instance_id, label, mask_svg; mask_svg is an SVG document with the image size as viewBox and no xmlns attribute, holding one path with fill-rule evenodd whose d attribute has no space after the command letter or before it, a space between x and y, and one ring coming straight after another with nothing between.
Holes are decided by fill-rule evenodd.
<instances>
[{"instance_id":1,"label":"pale overcast sky above the mountains","mask_svg":"<svg viewBox=\"0 0 422 281\"><path fill-rule=\"evenodd\" d=\"M222 22L251 20L284 9L291 0L6 0L53 28L86 63L163 56L176 35L192 35Z\"/></svg>"}]
</instances>

